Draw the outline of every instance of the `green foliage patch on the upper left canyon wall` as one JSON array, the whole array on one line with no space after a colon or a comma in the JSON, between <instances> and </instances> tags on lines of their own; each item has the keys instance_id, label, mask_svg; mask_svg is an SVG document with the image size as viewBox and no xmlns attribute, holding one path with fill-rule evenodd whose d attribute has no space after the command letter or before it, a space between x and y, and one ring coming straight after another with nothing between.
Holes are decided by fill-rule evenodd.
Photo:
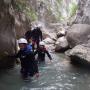
<instances>
[{"instance_id":1,"label":"green foliage patch on the upper left canyon wall","mask_svg":"<svg viewBox=\"0 0 90 90\"><path fill-rule=\"evenodd\" d=\"M16 0L15 10L24 13L31 21L37 19L36 12L30 7L27 0Z\"/></svg>"}]
</instances>

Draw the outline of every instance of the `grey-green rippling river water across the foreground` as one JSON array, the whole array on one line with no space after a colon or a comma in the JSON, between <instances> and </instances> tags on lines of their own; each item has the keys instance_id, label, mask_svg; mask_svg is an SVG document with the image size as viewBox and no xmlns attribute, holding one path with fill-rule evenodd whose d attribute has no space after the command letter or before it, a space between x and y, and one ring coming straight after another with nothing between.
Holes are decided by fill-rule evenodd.
<instances>
[{"instance_id":1,"label":"grey-green rippling river water across the foreground","mask_svg":"<svg viewBox=\"0 0 90 90\"><path fill-rule=\"evenodd\" d=\"M39 65L40 77L24 81L20 66L0 73L0 90L90 90L90 70L75 67L63 54L52 54Z\"/></svg>"}]
</instances>

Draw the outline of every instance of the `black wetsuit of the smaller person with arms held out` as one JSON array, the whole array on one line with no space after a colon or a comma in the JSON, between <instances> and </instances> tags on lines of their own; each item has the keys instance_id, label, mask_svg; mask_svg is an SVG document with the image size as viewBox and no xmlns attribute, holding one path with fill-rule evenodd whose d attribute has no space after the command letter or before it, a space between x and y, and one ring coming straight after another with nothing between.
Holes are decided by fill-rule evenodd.
<instances>
[{"instance_id":1,"label":"black wetsuit of the smaller person with arms held out","mask_svg":"<svg viewBox=\"0 0 90 90\"><path fill-rule=\"evenodd\" d=\"M47 56L49 57L49 59L52 60L51 55L49 54L49 52L48 52L45 48L43 48L43 49L38 48L38 49L35 51L34 54L35 54L35 55L38 54L38 58L37 58L37 59L38 59L39 62L45 62L45 55L46 55L46 54L47 54Z\"/></svg>"}]
</instances>

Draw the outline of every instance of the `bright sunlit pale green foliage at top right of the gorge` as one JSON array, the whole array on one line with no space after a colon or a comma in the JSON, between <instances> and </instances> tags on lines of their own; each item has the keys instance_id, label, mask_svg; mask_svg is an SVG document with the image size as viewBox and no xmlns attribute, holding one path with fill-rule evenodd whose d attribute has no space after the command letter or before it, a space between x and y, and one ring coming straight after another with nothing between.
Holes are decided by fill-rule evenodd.
<instances>
[{"instance_id":1,"label":"bright sunlit pale green foliage at top right of the gorge","mask_svg":"<svg viewBox=\"0 0 90 90\"><path fill-rule=\"evenodd\" d=\"M62 8L64 5L63 0L56 0L56 18L58 21L63 21L66 20L72 16L74 16L76 14L76 11L78 9L78 5L76 3L75 0L72 0L69 3L69 6L67 5L66 7ZM65 12L63 12L62 10L65 10L67 16L65 16Z\"/></svg>"}]
</instances>

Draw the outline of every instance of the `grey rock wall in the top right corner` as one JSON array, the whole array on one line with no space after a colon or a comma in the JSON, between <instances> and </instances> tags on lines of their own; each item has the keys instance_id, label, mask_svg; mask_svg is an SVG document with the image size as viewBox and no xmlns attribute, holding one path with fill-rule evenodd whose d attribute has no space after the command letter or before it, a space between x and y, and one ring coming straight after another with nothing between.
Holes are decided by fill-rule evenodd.
<instances>
[{"instance_id":1,"label":"grey rock wall in the top right corner","mask_svg":"<svg viewBox=\"0 0 90 90\"><path fill-rule=\"evenodd\" d=\"M90 24L90 0L78 0L75 23Z\"/></svg>"}]
</instances>

